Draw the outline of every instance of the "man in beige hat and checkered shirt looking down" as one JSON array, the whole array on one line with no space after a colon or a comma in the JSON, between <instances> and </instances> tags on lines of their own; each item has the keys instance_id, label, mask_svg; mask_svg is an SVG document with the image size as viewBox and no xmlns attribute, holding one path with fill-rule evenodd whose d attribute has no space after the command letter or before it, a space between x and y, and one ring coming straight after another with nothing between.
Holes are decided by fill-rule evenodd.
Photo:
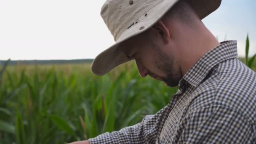
<instances>
[{"instance_id":1,"label":"man in beige hat and checkered shirt looking down","mask_svg":"<svg viewBox=\"0 0 256 144\"><path fill-rule=\"evenodd\" d=\"M141 77L178 86L167 106L136 125L77 144L255 143L256 73L201 22L221 0L107 0L115 45L93 61L104 75L135 59Z\"/></svg>"}]
</instances>

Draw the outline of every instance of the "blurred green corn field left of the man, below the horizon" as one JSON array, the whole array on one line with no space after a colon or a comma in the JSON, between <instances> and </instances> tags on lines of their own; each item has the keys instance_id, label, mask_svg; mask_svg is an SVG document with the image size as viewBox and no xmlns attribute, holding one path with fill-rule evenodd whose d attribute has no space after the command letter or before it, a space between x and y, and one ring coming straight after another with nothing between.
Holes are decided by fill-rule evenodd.
<instances>
[{"instance_id":1,"label":"blurred green corn field left of the man, below the horizon","mask_svg":"<svg viewBox=\"0 0 256 144\"><path fill-rule=\"evenodd\" d=\"M0 85L0 143L59 144L92 138L138 123L176 92L140 78L133 63L102 77L89 67L8 67Z\"/></svg>"}]
</instances>

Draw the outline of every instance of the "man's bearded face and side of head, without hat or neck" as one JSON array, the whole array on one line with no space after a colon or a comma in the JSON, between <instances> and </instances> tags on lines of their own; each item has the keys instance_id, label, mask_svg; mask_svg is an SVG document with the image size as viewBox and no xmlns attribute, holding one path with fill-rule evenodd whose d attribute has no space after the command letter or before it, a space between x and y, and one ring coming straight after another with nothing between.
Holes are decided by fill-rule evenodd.
<instances>
[{"instance_id":1,"label":"man's bearded face and side of head, without hat or neck","mask_svg":"<svg viewBox=\"0 0 256 144\"><path fill-rule=\"evenodd\" d=\"M121 43L120 48L135 59L141 77L149 75L176 86L182 78L181 55L200 27L202 22L193 8L181 0L153 27Z\"/></svg>"}]
</instances>

